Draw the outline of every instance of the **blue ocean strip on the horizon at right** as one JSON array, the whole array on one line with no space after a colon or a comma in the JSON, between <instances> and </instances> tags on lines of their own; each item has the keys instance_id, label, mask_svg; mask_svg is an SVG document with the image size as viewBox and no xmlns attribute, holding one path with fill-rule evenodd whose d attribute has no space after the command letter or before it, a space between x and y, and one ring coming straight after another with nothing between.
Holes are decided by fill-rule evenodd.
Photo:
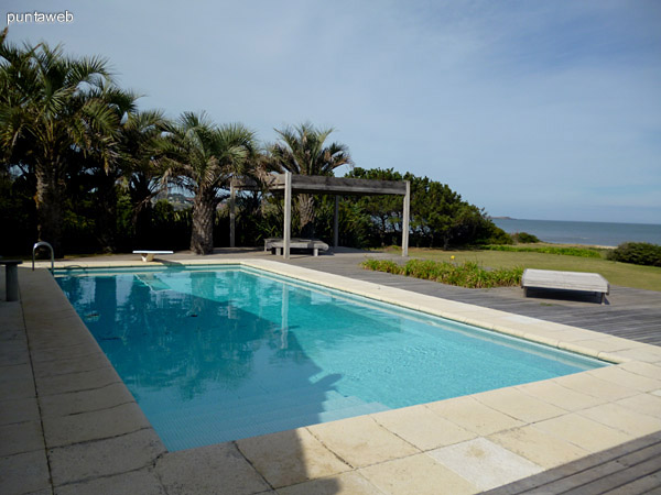
<instances>
[{"instance_id":1,"label":"blue ocean strip on the horizon at right","mask_svg":"<svg viewBox=\"0 0 661 495\"><path fill-rule=\"evenodd\" d=\"M617 246L622 242L661 244L661 226L651 223L570 222L495 218L508 233L528 232L540 241L560 244Z\"/></svg>"}]
</instances>

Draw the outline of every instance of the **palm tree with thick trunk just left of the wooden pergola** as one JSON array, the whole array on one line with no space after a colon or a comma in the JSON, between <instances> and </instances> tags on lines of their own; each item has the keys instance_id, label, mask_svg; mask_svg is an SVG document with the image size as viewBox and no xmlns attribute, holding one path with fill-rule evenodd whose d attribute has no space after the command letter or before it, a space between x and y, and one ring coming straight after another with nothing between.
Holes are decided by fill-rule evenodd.
<instances>
[{"instance_id":1,"label":"palm tree with thick trunk just left of the wooden pergola","mask_svg":"<svg viewBox=\"0 0 661 495\"><path fill-rule=\"evenodd\" d=\"M241 124L217 127L204 112L184 112L167 134L163 152L170 167L164 178L194 195L191 250L209 254L216 208L224 199L220 191L232 176L246 174L254 135Z\"/></svg>"}]
</instances>

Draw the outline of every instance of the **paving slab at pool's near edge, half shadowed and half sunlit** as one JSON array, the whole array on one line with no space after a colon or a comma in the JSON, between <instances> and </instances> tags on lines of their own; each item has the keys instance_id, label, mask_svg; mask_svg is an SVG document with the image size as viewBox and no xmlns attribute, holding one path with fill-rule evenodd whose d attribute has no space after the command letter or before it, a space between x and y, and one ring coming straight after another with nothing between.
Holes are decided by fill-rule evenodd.
<instances>
[{"instance_id":1,"label":"paving slab at pool's near edge, half shadowed and half sunlit","mask_svg":"<svg viewBox=\"0 0 661 495\"><path fill-rule=\"evenodd\" d=\"M237 440L236 443L274 488L351 469L304 428Z\"/></svg>"}]
</instances>

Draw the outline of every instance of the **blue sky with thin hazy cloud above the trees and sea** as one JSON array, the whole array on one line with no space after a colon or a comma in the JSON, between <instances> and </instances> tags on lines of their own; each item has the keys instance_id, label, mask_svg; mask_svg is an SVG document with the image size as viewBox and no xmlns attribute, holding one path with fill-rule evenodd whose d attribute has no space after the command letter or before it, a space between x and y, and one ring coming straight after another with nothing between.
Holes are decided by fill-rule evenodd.
<instances>
[{"instance_id":1,"label":"blue sky with thin hazy cloud above the trees and sea","mask_svg":"<svg viewBox=\"0 0 661 495\"><path fill-rule=\"evenodd\" d=\"M657 0L3 0L14 43L102 55L141 109L262 142L333 128L356 166L491 216L661 224ZM340 169L336 175L344 175Z\"/></svg>"}]
</instances>

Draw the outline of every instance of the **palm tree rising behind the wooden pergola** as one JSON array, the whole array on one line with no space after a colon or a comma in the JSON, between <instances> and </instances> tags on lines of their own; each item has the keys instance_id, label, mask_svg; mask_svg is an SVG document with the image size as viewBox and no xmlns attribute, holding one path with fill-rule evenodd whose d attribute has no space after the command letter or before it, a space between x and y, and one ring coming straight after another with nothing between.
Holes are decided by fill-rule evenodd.
<instances>
[{"instance_id":1,"label":"palm tree rising behind the wooden pergola","mask_svg":"<svg viewBox=\"0 0 661 495\"><path fill-rule=\"evenodd\" d=\"M282 172L332 176L335 168L353 165L349 150L344 144L324 146L333 131L332 128L317 129L310 122L275 129L281 141L271 146L271 158ZM314 196L299 195L299 216L302 235L314 237Z\"/></svg>"}]
</instances>

